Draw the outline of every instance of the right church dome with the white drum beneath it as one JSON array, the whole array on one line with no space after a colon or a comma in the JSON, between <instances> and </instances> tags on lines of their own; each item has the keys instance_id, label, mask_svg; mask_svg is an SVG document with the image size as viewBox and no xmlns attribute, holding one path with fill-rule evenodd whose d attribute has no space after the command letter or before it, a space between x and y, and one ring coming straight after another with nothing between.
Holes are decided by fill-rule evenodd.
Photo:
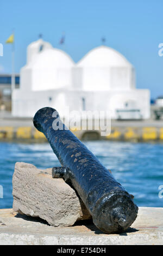
<instances>
[{"instance_id":1,"label":"right church dome with the white drum beneath it","mask_svg":"<svg viewBox=\"0 0 163 256\"><path fill-rule=\"evenodd\" d=\"M120 52L107 46L88 52L74 69L74 81L77 74L84 91L129 90L135 86L133 66Z\"/></svg>"}]
</instances>

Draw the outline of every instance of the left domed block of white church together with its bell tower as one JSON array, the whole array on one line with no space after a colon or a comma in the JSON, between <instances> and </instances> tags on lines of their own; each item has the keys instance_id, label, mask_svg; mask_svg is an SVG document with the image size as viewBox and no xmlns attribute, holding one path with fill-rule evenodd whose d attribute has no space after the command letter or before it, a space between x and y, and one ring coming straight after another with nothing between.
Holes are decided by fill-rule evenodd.
<instances>
[{"instance_id":1,"label":"left domed block of white church together with its bell tower","mask_svg":"<svg viewBox=\"0 0 163 256\"><path fill-rule=\"evenodd\" d=\"M74 62L66 52L39 39L28 46L27 60L21 69L22 90L47 91L71 87Z\"/></svg>"}]
</instances>

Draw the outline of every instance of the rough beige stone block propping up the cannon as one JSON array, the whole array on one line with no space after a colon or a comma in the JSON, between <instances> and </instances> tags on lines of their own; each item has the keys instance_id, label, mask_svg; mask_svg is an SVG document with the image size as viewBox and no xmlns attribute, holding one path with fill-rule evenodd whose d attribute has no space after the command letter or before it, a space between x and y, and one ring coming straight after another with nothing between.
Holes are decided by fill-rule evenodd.
<instances>
[{"instance_id":1,"label":"rough beige stone block propping up the cannon","mask_svg":"<svg viewBox=\"0 0 163 256\"><path fill-rule=\"evenodd\" d=\"M68 227L91 218L82 199L62 178L52 178L52 169L40 170L16 163L12 178L13 210L45 219L54 227Z\"/></svg>"}]
</instances>

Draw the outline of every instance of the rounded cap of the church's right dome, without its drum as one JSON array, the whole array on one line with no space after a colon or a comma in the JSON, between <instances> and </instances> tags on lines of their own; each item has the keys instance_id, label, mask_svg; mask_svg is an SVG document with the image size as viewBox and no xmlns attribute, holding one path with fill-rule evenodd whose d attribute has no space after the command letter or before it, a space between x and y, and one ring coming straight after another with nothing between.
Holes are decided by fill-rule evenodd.
<instances>
[{"instance_id":1,"label":"rounded cap of the church's right dome, without its drum","mask_svg":"<svg viewBox=\"0 0 163 256\"><path fill-rule=\"evenodd\" d=\"M78 67L129 67L131 64L118 51L99 46L89 51L78 63Z\"/></svg>"}]
</instances>

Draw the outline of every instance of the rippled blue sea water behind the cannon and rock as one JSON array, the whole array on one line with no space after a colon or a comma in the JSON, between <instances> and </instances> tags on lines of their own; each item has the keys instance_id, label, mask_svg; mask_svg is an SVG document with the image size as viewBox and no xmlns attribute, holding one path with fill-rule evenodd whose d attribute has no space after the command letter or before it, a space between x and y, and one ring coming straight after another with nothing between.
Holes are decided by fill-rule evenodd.
<instances>
[{"instance_id":1,"label":"rippled blue sea water behind the cannon and rock","mask_svg":"<svg viewBox=\"0 0 163 256\"><path fill-rule=\"evenodd\" d=\"M163 185L163 144L86 141L138 206L163 207L159 186ZM45 169L60 166L49 144L0 142L0 209L12 207L12 175L16 162ZM3 188L3 193L2 193ZM163 194L163 193L162 193Z\"/></svg>"}]
</instances>

